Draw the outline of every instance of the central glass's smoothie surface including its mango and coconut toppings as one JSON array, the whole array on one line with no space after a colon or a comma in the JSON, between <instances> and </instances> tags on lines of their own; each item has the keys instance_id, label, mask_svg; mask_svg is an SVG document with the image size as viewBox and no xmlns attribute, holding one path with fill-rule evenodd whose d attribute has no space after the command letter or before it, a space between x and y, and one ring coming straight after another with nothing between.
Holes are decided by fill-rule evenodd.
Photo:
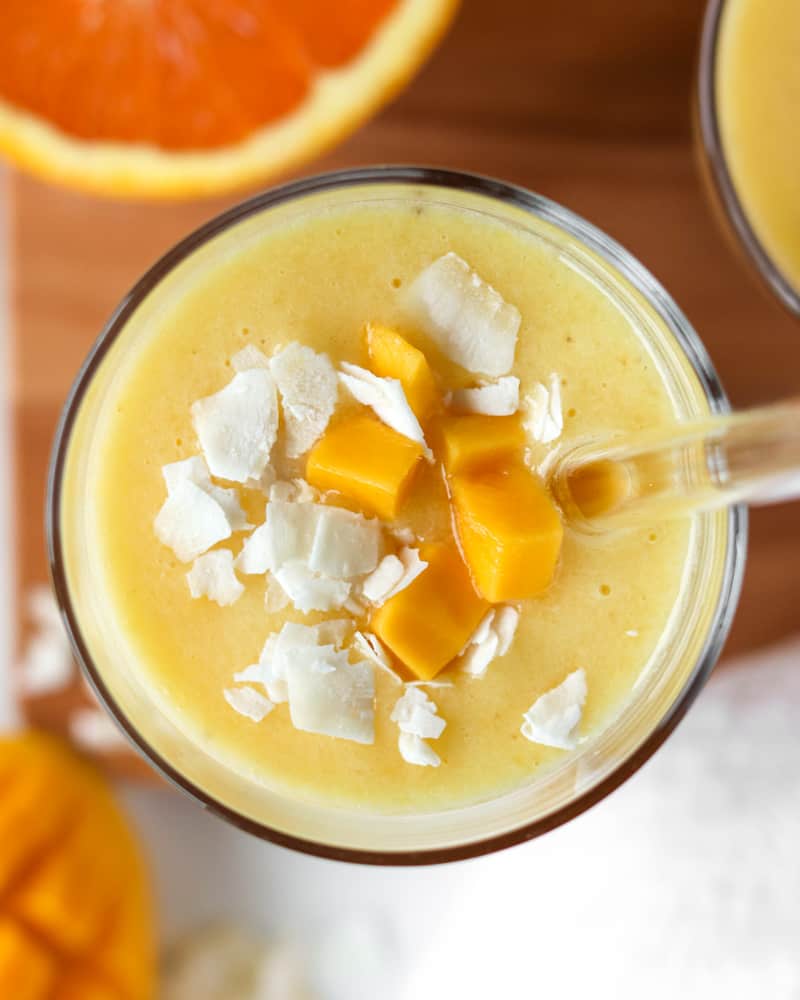
<instances>
[{"instance_id":1,"label":"central glass's smoothie surface including its mango and coconut toppings","mask_svg":"<svg viewBox=\"0 0 800 1000\"><path fill-rule=\"evenodd\" d=\"M227 768L382 813L485 801L613 722L692 555L688 520L573 533L548 463L677 419L552 241L334 204L221 255L120 360L85 558L137 681Z\"/></svg>"}]
</instances>

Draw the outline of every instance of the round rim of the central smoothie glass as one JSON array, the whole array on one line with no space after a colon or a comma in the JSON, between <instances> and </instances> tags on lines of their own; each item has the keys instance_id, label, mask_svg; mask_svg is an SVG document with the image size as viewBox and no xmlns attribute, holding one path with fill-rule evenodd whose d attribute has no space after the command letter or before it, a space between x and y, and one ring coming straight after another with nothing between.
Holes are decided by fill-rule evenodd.
<instances>
[{"instance_id":1,"label":"round rim of the central smoothie glass","mask_svg":"<svg viewBox=\"0 0 800 1000\"><path fill-rule=\"evenodd\" d=\"M66 572L63 537L61 531L62 486L66 458L72 430L84 394L95 372L117 337L125 329L128 319L138 309L147 295L164 280L174 268L193 252L216 236L244 219L267 209L297 200L306 195L324 191L375 184L413 184L429 188L455 189L457 191L488 196L517 208L522 208L538 218L555 224L558 228L579 238L589 249L618 270L659 314L688 358L701 382L712 412L724 412L729 403L711 359L697 333L661 284L627 250L583 218L541 195L522 187L495 180L479 174L419 166L378 166L332 171L292 181L257 194L209 222L177 243L156 261L136 282L111 314L100 335L95 340L86 360L72 384L64 404L51 452L45 503L45 531L47 555L53 586L73 652L84 676L107 712L121 728L128 742L143 756L154 770L179 791L188 795L203 808L228 821L246 833L261 840L271 841L304 854L368 865L429 865L460 861L493 853L516 844L532 840L575 818L605 798L636 772L661 746L686 714L690 705L704 686L719 657L733 619L744 571L747 542L747 509L744 506L728 510L728 538L725 564L717 606L705 636L701 655L697 658L678 696L669 706L658 725L613 770L596 785L581 792L573 800L539 818L524 823L513 830L492 835L482 840L471 840L453 846L423 850L371 851L361 848L340 847L322 841L308 840L282 830L276 830L258 820L243 815L209 795L177 768L165 760L138 732L117 704L97 669L83 637Z\"/></svg>"}]
</instances>

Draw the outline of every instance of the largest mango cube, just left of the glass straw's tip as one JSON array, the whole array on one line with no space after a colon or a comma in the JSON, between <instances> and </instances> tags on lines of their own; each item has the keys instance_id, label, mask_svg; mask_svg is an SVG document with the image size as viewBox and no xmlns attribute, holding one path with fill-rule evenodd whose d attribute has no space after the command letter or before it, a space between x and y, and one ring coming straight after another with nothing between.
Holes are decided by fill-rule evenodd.
<instances>
[{"instance_id":1,"label":"largest mango cube, just left of the glass straw's tip","mask_svg":"<svg viewBox=\"0 0 800 1000\"><path fill-rule=\"evenodd\" d=\"M488 601L519 601L549 586L564 529L537 476L521 464L454 476L450 494L464 556Z\"/></svg>"}]
</instances>

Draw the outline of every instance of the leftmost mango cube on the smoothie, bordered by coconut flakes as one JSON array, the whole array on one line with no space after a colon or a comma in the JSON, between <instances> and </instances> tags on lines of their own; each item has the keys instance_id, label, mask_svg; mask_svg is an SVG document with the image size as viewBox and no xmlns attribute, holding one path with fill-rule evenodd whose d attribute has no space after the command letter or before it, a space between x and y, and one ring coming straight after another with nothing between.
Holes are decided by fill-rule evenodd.
<instances>
[{"instance_id":1,"label":"leftmost mango cube on the smoothie, bordered by coconut flakes","mask_svg":"<svg viewBox=\"0 0 800 1000\"><path fill-rule=\"evenodd\" d=\"M333 424L314 445L306 479L318 490L338 490L369 513L391 521L421 458L422 445L359 413Z\"/></svg>"}]
</instances>

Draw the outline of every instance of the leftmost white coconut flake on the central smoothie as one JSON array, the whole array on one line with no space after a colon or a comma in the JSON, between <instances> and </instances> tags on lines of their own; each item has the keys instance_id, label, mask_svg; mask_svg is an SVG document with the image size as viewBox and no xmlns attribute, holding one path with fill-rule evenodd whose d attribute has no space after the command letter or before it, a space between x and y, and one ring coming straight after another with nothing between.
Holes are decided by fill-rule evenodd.
<instances>
[{"instance_id":1,"label":"leftmost white coconut flake on the central smoothie","mask_svg":"<svg viewBox=\"0 0 800 1000\"><path fill-rule=\"evenodd\" d=\"M191 562L231 536L230 523L219 503L188 479L167 496L153 527L158 540L181 562Z\"/></svg>"}]
</instances>

